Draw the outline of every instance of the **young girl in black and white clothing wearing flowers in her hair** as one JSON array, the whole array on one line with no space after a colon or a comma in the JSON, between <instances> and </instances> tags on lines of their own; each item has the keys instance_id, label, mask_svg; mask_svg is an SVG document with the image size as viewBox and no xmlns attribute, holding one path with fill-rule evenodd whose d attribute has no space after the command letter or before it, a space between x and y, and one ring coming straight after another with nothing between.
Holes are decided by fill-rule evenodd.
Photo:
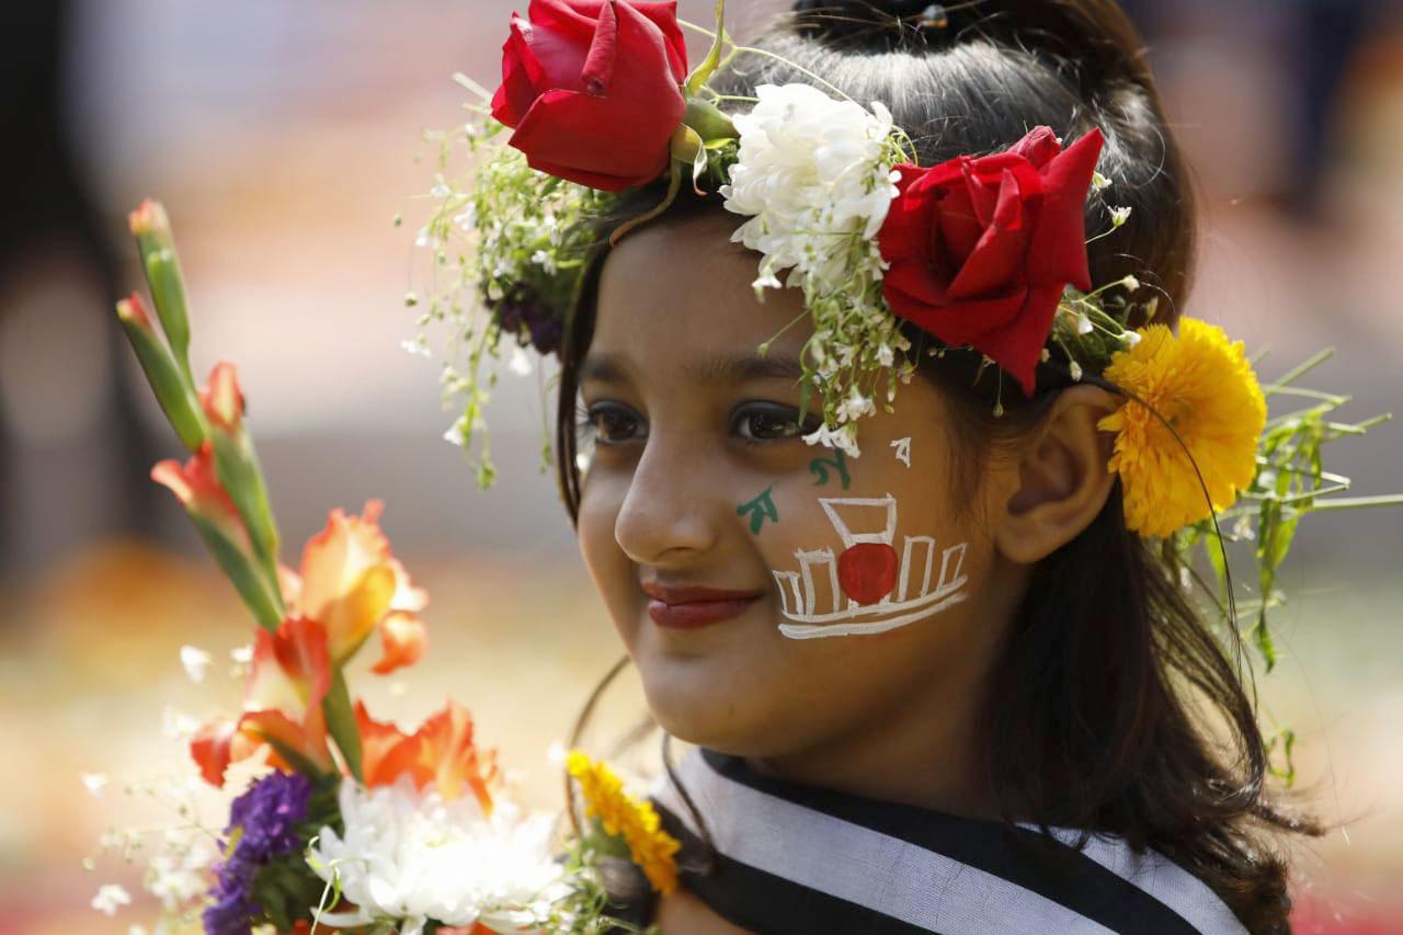
<instances>
[{"instance_id":1,"label":"young girl in black and white clothing wearing flowers in her hair","mask_svg":"<svg viewBox=\"0 0 1403 935\"><path fill-rule=\"evenodd\" d=\"M1287 931L1275 835L1313 827L1268 796L1239 665L1153 545L1229 505L1250 465L1215 480L1223 441L1195 449L1197 482L1135 475L1113 437L1136 418L1121 373L1070 347L1101 319L1051 324L1066 285L1115 286L1120 359L1169 347L1164 329L1132 330L1176 324L1190 289L1190 175L1125 15L1113 0L804 0L710 81L753 174L717 190L678 184L678 161L671 178L669 160L565 164L609 147L546 139L549 107L588 133L609 119L588 107L643 97L643 72L600 67L613 46L593 32L571 65L582 90L542 97L563 79L513 55L605 22L643 69L675 58L671 6L537 0L494 107L532 166L622 192L564 334L521 309L515 327L560 340L581 552L657 722L700 747L657 793L682 889L640 918L669 935ZM765 167L843 157L831 121L856 111L828 110L843 97L878 122L890 110L912 164L863 233L881 240L890 333L824 305L821 240L776 260L781 183L801 183ZM623 163L645 128L610 126ZM682 152L700 178L710 150ZM864 216L873 191L793 205L794 241L803 218ZM1083 222L1108 236L1086 241ZM877 282L831 261L838 281ZM803 289L776 288L805 263ZM845 327L864 340L845 350ZM1260 392L1204 399L1232 410L1225 438L1260 432ZM1177 404L1153 418L1181 438L1197 416Z\"/></svg>"}]
</instances>

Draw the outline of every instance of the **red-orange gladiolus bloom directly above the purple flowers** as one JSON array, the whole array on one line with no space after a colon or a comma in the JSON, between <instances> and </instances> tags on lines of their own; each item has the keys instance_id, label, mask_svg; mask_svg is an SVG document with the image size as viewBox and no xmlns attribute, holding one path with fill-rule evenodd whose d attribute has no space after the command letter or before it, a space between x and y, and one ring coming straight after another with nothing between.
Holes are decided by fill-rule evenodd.
<instances>
[{"instance_id":1,"label":"red-orange gladiolus bloom directly above the purple flowers","mask_svg":"<svg viewBox=\"0 0 1403 935\"><path fill-rule=\"evenodd\" d=\"M321 699L331 688L327 635L316 621L295 616L276 633L257 630L254 658L244 684L244 715L239 720L206 724L191 741L189 751L201 775L212 785L224 783L230 764L272 747L268 762L293 772L279 748L311 767L330 771L327 724Z\"/></svg>"}]
</instances>

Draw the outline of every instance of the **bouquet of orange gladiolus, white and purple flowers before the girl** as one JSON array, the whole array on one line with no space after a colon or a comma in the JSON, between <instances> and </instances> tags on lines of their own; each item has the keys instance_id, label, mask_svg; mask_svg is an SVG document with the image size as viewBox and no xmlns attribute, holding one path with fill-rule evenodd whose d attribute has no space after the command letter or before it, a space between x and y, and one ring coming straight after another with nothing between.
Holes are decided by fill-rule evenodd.
<instances>
[{"instance_id":1,"label":"bouquet of orange gladiolus, white and purple flowers before the girl","mask_svg":"<svg viewBox=\"0 0 1403 935\"><path fill-rule=\"evenodd\" d=\"M152 477L178 497L257 623L234 654L237 713L188 731L199 779L174 793L187 823L166 830L146 876L164 907L159 931L638 931L607 915L600 858L637 855L666 890L678 844L606 765L570 755L592 820L571 814L575 831L557 835L557 816L528 814L511 800L462 706L450 701L405 733L355 699L345 667L368 643L379 644L372 671L380 675L424 656L428 595L394 557L377 500L359 515L333 510L297 570L279 562L236 368L216 364L196 389L166 212L146 201L129 220L156 314L133 293L118 317L189 451L184 463L156 465ZM188 646L181 656L191 677L203 678L210 656ZM201 827L194 800L236 789L227 823ZM104 841L128 855L133 844L116 833ZM129 901L108 884L93 904L114 914Z\"/></svg>"}]
</instances>

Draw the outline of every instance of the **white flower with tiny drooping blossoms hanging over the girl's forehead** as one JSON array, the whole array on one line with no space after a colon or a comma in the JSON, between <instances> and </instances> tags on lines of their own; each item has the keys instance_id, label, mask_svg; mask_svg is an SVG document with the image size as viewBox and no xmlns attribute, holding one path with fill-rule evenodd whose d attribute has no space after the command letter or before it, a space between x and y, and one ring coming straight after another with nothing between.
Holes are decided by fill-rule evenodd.
<instances>
[{"instance_id":1,"label":"white flower with tiny drooping blossoms hanging over the girl's forehead","mask_svg":"<svg viewBox=\"0 0 1403 935\"><path fill-rule=\"evenodd\" d=\"M856 421L877 411L877 383L890 404L897 380L915 369L911 343L881 296L887 264L877 234L899 194L892 166L904 159L891 112L866 110L808 84L765 84L758 104L735 117L741 143L725 208L749 215L732 240L762 254L756 295L783 285L804 291L814 337L805 380L824 394L824 425L811 445L856 458Z\"/></svg>"}]
</instances>

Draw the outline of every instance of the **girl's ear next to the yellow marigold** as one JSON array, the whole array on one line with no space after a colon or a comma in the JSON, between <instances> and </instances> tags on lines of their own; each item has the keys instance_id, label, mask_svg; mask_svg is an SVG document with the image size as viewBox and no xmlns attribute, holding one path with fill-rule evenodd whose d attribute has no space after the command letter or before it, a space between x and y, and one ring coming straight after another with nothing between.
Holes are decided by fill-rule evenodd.
<instances>
[{"instance_id":1,"label":"girl's ear next to the yellow marigold","mask_svg":"<svg viewBox=\"0 0 1403 935\"><path fill-rule=\"evenodd\" d=\"M1012 562L1033 564L1092 525L1115 476L1107 469L1111 437L1096 424L1120 400L1097 386L1062 392L1017 463L1017 490L996 505L995 546Z\"/></svg>"}]
</instances>

